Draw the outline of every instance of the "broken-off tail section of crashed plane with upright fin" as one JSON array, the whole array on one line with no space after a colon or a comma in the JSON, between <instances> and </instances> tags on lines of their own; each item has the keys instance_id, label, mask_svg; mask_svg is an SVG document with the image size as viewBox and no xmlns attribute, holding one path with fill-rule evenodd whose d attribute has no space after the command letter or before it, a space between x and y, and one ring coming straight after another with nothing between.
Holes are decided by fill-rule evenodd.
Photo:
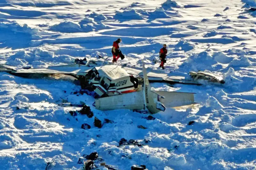
<instances>
[{"instance_id":1,"label":"broken-off tail section of crashed plane with upright fin","mask_svg":"<svg viewBox=\"0 0 256 170\"><path fill-rule=\"evenodd\" d=\"M125 80L124 82L126 81L128 80ZM144 64L143 87L140 84L140 89L137 89L132 93L95 99L95 107L99 110L143 110L147 108L152 114L164 111L166 107L178 107L193 103L194 93L151 90Z\"/></svg>"}]
</instances>

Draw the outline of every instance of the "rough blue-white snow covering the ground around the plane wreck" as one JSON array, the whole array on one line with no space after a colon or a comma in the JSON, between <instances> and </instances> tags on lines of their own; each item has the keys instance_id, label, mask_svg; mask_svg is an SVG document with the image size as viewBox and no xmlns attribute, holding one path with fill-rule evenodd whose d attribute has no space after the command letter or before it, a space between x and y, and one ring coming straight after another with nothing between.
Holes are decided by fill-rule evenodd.
<instances>
[{"instance_id":1,"label":"rough blue-white snow covering the ground around the plane wreck","mask_svg":"<svg viewBox=\"0 0 256 170\"><path fill-rule=\"evenodd\" d=\"M0 0L0 63L47 67L97 54L111 56L122 38L118 64L158 69L152 60L165 43L165 71L208 70L224 85L153 83L157 90L195 92L198 104L152 115L100 111L72 81L26 79L0 73L0 169L81 169L78 158L98 152L120 170L256 168L255 0ZM111 61L111 57L108 58ZM94 117L75 117L67 100L91 106ZM194 124L188 125L190 121ZM82 129L87 123L91 129ZM147 129L138 128L138 126ZM121 138L143 146L119 146ZM104 169L99 166L98 169Z\"/></svg>"}]
</instances>

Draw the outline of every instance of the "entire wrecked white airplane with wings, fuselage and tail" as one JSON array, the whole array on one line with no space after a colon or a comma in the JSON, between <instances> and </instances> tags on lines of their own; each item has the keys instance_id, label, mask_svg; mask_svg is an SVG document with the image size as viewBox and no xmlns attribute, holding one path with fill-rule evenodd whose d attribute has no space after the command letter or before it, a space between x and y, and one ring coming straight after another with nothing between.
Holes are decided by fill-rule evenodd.
<instances>
[{"instance_id":1,"label":"entire wrecked white airplane with wings, fuselage and tail","mask_svg":"<svg viewBox=\"0 0 256 170\"><path fill-rule=\"evenodd\" d=\"M105 65L88 67L88 65L70 64L47 68L17 69L0 65L0 71L13 75L42 78L46 76L67 75L79 80L81 87L97 94L95 107L99 110L148 109L154 114L164 111L166 107L179 107L194 103L194 93L154 91L149 82L167 82L196 84L198 82L182 76L168 76L146 68L121 67Z\"/></svg>"}]
</instances>

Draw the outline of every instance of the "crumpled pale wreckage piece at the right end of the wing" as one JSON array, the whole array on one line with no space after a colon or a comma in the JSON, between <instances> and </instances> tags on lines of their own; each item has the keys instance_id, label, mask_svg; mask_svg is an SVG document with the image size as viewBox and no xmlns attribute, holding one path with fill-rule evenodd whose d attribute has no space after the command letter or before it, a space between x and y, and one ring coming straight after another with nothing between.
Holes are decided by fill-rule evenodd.
<instances>
[{"instance_id":1,"label":"crumpled pale wreckage piece at the right end of the wing","mask_svg":"<svg viewBox=\"0 0 256 170\"><path fill-rule=\"evenodd\" d=\"M213 75L211 73L206 73L203 71L194 72L190 71L189 75L196 81L198 79L204 79L212 82L219 82L221 84L224 84L225 81L223 79L218 78L216 75Z\"/></svg>"}]
</instances>

